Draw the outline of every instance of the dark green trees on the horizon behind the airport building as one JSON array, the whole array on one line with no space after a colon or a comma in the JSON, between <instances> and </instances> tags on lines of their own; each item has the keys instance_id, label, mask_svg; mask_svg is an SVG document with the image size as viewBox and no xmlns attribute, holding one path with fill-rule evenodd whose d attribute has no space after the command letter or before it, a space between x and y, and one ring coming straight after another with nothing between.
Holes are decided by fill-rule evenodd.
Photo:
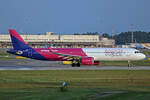
<instances>
[{"instance_id":1,"label":"dark green trees on the horizon behind the airport building","mask_svg":"<svg viewBox=\"0 0 150 100\"><path fill-rule=\"evenodd\" d=\"M100 35L98 32L87 32L87 33L75 33L74 35ZM121 32L119 34L115 34L114 36L103 33L100 36L106 38L113 38L117 45L128 44L131 43L131 32ZM133 32L133 41L135 43L150 43L150 32L144 31L135 31Z\"/></svg>"}]
</instances>

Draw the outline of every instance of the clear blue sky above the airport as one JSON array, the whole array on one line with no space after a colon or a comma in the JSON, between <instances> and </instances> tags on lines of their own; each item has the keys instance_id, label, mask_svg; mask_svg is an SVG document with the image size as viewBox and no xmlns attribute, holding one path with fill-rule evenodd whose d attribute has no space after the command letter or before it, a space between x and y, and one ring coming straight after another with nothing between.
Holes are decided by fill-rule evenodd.
<instances>
[{"instance_id":1,"label":"clear blue sky above the airport","mask_svg":"<svg viewBox=\"0 0 150 100\"><path fill-rule=\"evenodd\" d=\"M0 0L0 33L150 31L150 0ZM114 27L114 28L112 28Z\"/></svg>"}]
</instances>

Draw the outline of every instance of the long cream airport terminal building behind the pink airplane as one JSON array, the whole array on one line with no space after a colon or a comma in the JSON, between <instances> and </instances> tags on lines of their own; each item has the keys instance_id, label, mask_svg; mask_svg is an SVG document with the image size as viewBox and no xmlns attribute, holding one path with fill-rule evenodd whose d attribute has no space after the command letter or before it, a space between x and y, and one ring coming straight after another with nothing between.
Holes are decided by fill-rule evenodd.
<instances>
[{"instance_id":1,"label":"long cream airport terminal building behind the pink airplane","mask_svg":"<svg viewBox=\"0 0 150 100\"><path fill-rule=\"evenodd\" d=\"M53 32L36 35L21 35L34 48L51 46L54 48L98 48L113 47L115 40L99 35L55 35ZM0 48L12 48L9 34L0 35Z\"/></svg>"}]
</instances>

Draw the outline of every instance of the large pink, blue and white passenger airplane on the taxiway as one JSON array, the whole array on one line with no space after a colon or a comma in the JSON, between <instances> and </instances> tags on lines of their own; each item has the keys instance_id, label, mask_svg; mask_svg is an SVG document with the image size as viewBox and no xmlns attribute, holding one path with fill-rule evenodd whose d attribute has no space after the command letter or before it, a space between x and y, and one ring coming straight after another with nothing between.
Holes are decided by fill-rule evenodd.
<instances>
[{"instance_id":1,"label":"large pink, blue and white passenger airplane on the taxiway","mask_svg":"<svg viewBox=\"0 0 150 100\"><path fill-rule=\"evenodd\" d=\"M37 60L72 61L72 67L99 64L100 61L133 61L146 56L134 48L32 48L14 29L9 29L13 49L10 54Z\"/></svg>"}]
</instances>

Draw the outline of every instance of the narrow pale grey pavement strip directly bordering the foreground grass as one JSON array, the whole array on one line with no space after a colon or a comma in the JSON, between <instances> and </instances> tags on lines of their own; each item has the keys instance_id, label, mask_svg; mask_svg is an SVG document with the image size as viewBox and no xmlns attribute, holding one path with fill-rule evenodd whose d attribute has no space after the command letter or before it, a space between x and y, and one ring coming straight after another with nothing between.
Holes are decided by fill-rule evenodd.
<instances>
[{"instance_id":1,"label":"narrow pale grey pavement strip directly bordering the foreground grass","mask_svg":"<svg viewBox=\"0 0 150 100\"><path fill-rule=\"evenodd\" d=\"M24 67L24 66L12 66L12 67L0 67L0 70L150 70L150 67L138 66L128 68L126 66L81 66L81 67L71 67L71 66L61 66L61 67Z\"/></svg>"}]
</instances>

